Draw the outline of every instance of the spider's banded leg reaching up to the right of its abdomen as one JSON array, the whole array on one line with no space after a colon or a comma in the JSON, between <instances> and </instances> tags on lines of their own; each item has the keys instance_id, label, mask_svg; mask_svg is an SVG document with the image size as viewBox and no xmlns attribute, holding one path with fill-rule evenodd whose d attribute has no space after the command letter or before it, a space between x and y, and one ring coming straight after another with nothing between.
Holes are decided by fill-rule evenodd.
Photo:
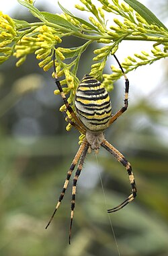
<instances>
[{"instance_id":1,"label":"spider's banded leg reaching up to the right of its abdomen","mask_svg":"<svg viewBox=\"0 0 168 256\"><path fill-rule=\"evenodd\" d=\"M124 73L124 70L120 64L120 62L118 61L116 55L114 55L114 58L116 59L120 69L122 70L122 74L124 75L124 78L126 80L125 82L125 96L124 96L124 106L116 113L114 114L111 118L110 121L108 123L108 126L110 126L114 121L116 121L116 119L118 119L118 117L120 117L120 115L122 115L128 108L128 91L129 91L129 80L126 77L126 74Z\"/></svg>"}]
</instances>

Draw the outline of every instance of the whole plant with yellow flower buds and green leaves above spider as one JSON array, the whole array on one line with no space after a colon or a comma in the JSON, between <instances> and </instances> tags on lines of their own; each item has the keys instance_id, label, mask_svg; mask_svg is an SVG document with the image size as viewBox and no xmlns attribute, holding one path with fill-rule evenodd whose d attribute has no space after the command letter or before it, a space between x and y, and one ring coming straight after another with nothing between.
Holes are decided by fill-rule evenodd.
<instances>
[{"instance_id":1,"label":"whole plant with yellow flower buds and green leaves above spider","mask_svg":"<svg viewBox=\"0 0 168 256\"><path fill-rule=\"evenodd\" d=\"M122 67L128 73L141 65L151 64L168 57L168 30L165 25L142 3L136 0L97 0L101 7L96 7L91 0L80 0L81 5L75 5L80 11L89 13L89 18L83 20L60 5L61 14L40 11L32 0L17 0L24 5L40 22L28 23L15 20L0 12L0 63L11 55L16 57L17 67L26 61L26 57L34 53L40 60L39 66L48 71L53 66L52 56L56 54L56 73L62 77L60 84L65 94L69 94L69 102L73 107L75 91L79 84L77 69L81 55L93 42L99 47L93 51L93 64L90 75L102 80L107 90L112 90L114 82L122 75L120 69L112 66L113 73L103 73L106 61L118 50L122 40L154 42L151 52L134 53L124 59ZM108 15L110 20L108 22ZM64 48L62 38L75 36L86 40L81 46ZM121 46L122 47L122 46ZM68 61L65 61L68 60ZM59 94L58 90L54 91ZM60 108L65 111L65 106Z\"/></svg>"}]
</instances>

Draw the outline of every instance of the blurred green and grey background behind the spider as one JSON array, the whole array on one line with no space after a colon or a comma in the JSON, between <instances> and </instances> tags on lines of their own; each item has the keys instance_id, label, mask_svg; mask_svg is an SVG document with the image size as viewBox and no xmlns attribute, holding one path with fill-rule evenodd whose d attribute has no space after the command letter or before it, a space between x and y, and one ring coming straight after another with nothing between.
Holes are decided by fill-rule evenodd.
<instances>
[{"instance_id":1,"label":"blurred green and grey background behind the spider","mask_svg":"<svg viewBox=\"0 0 168 256\"><path fill-rule=\"evenodd\" d=\"M13 17L23 18L16 13L17 10ZM27 14L28 11L24 19L33 21ZM81 43L71 38L62 45ZM81 59L80 78L89 72L92 50ZM111 58L109 65L112 62ZM161 78L150 94L145 94L145 77L136 77L142 78L143 96L132 85L128 111L106 131L108 141L132 164L138 189L131 204L110 214L123 256L168 255L167 60L160 67L164 70L153 71ZM0 67L0 255L116 256L118 250L106 209L126 199L130 184L124 167L103 149L97 156L98 166L95 155L87 155L79 178L71 246L68 239L72 183L45 230L79 147L79 133L74 129L65 131L67 123L58 111L62 101L53 94L51 73L52 70L44 73L34 56L19 68L15 67L15 59ZM131 74L128 76L132 84ZM110 96L115 112L123 104L124 79L115 85Z\"/></svg>"}]
</instances>

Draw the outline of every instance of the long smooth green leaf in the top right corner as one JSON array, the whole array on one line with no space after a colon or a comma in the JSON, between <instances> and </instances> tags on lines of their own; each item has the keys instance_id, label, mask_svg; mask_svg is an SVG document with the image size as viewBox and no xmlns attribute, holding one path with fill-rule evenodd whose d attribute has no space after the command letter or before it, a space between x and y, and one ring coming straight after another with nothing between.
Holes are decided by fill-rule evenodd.
<instances>
[{"instance_id":1,"label":"long smooth green leaf in the top right corner","mask_svg":"<svg viewBox=\"0 0 168 256\"><path fill-rule=\"evenodd\" d=\"M150 11L147 7L142 5L142 3L139 3L136 0L124 0L124 1L128 3L128 5L130 5L130 7L132 7L150 25L154 24L159 27L165 28L165 30L167 30L165 25L155 16L155 14L153 14L153 12Z\"/></svg>"}]
</instances>

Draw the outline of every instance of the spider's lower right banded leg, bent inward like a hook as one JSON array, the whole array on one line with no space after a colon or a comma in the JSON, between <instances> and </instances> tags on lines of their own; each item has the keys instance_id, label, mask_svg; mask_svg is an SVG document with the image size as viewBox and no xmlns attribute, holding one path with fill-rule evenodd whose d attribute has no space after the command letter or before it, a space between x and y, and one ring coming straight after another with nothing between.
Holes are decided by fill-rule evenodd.
<instances>
[{"instance_id":1,"label":"spider's lower right banded leg, bent inward like a hook","mask_svg":"<svg viewBox=\"0 0 168 256\"><path fill-rule=\"evenodd\" d=\"M132 193L129 195L129 197L124 202L122 202L120 205L108 210L108 213L111 213L111 212L116 212L116 211L120 210L122 207L124 207L125 205L130 203L130 201L132 201L136 197L136 184L134 181L134 174L132 172L132 167L131 167L130 163L126 160L126 158L118 150L116 150L116 148L114 148L114 146L112 146L108 141L106 141L106 139L103 140L103 142L101 143L101 146L103 148L105 148L106 150L108 150L108 152L110 152L110 154L112 154L118 160L118 162L120 162L122 165L124 165L124 167L126 167L126 170L128 172L128 176L129 176L129 180L130 180L130 185L132 187Z\"/></svg>"}]
</instances>

